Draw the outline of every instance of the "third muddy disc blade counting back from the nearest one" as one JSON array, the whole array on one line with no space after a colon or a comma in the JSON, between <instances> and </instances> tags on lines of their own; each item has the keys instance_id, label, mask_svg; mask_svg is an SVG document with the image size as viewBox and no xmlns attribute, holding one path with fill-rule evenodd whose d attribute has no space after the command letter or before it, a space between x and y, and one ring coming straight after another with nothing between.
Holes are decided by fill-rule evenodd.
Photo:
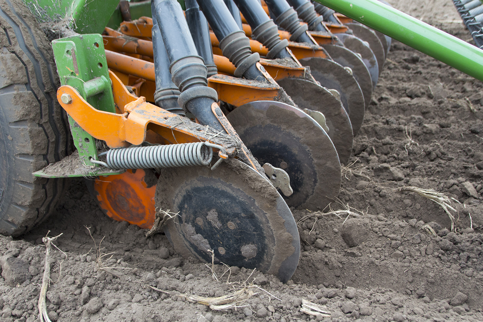
<instances>
[{"instance_id":1,"label":"third muddy disc blade counting back from the nearest one","mask_svg":"<svg viewBox=\"0 0 483 322\"><path fill-rule=\"evenodd\" d=\"M346 164L352 153L354 125L351 124L352 119L341 106L341 101L330 94L326 88L310 81L285 78L277 82L298 105L298 108L324 114L329 128L327 134L339 154L340 162ZM361 126L363 118L364 114L355 117L357 129Z\"/></svg>"}]
</instances>

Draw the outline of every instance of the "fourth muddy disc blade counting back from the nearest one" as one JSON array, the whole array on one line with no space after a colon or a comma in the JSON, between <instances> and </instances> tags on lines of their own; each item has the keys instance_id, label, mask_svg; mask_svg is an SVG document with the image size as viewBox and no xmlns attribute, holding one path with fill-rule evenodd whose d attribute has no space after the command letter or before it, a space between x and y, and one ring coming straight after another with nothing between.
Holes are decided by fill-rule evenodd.
<instances>
[{"instance_id":1,"label":"fourth muddy disc blade counting back from the nearest one","mask_svg":"<svg viewBox=\"0 0 483 322\"><path fill-rule=\"evenodd\" d=\"M354 76L351 75L349 71L345 70L342 65L325 58L303 58L300 59L300 63L303 66L310 66L310 73L322 86L339 91L341 94L342 105L349 113L352 131L355 136L362 125L364 112L366 110L364 95L362 95L362 90ZM341 155L339 155L339 157L341 158ZM342 160L341 162L345 163L345 161Z\"/></svg>"}]
</instances>

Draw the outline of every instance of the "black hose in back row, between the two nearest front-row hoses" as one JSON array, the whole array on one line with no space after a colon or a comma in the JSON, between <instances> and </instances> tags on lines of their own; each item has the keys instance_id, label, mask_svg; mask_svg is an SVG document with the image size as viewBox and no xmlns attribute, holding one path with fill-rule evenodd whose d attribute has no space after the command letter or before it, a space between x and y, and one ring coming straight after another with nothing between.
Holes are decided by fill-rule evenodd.
<instances>
[{"instance_id":1,"label":"black hose in back row, between the two nearest front-row hoses","mask_svg":"<svg viewBox=\"0 0 483 322\"><path fill-rule=\"evenodd\" d=\"M205 15L199 10L196 0L185 0L185 16L186 22L191 32L193 42L198 51L198 55L205 61L208 69L207 77L218 73L213 60L213 49L210 40L210 28ZM239 14L240 15L240 14Z\"/></svg>"}]
</instances>

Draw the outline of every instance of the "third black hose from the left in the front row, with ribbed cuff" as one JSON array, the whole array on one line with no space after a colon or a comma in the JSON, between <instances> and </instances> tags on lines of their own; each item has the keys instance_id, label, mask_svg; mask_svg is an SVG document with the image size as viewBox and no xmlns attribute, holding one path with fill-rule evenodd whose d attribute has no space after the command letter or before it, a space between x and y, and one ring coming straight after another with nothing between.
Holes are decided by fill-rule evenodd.
<instances>
[{"instance_id":1,"label":"third black hose from the left in the front row, with ribbed cuff","mask_svg":"<svg viewBox=\"0 0 483 322\"><path fill-rule=\"evenodd\" d=\"M280 39L277 25L265 13L258 0L235 0L235 3L252 28L252 39L269 49L267 58L293 59L287 51L288 42Z\"/></svg>"}]
</instances>

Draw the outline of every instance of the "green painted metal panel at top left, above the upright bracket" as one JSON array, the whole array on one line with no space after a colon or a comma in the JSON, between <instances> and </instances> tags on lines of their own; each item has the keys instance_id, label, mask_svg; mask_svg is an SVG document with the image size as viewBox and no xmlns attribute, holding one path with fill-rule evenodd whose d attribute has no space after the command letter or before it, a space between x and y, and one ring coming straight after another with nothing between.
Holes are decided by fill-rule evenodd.
<instances>
[{"instance_id":1,"label":"green painted metal panel at top left, above the upright bracket","mask_svg":"<svg viewBox=\"0 0 483 322\"><path fill-rule=\"evenodd\" d=\"M67 28L81 34L101 33L119 0L24 0L38 22L53 25L67 21Z\"/></svg>"}]
</instances>

